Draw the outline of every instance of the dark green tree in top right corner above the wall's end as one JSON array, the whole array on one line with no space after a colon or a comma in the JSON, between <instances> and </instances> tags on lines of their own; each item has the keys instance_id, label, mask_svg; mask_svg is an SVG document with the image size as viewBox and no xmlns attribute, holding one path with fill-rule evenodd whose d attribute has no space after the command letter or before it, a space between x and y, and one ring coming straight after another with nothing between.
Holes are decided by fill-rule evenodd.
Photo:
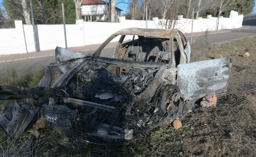
<instances>
[{"instance_id":1,"label":"dark green tree in top right corner above the wall's end","mask_svg":"<svg viewBox=\"0 0 256 157\"><path fill-rule=\"evenodd\" d=\"M238 3L234 6L234 9L240 14L247 15L253 11L254 6L254 0L239 0Z\"/></svg>"}]
</instances>

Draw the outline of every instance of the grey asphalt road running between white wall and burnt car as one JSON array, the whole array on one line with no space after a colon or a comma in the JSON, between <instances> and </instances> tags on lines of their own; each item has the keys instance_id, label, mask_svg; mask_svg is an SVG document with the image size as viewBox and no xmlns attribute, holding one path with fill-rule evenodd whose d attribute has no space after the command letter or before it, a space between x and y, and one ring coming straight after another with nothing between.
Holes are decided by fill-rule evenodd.
<instances>
[{"instance_id":1,"label":"grey asphalt road running between white wall and burnt car","mask_svg":"<svg viewBox=\"0 0 256 157\"><path fill-rule=\"evenodd\" d=\"M256 20L252 21L251 25L254 25ZM222 42L226 40L233 40L236 38L242 38L250 35L256 35L256 24L251 26L249 29L240 30L240 31L231 31L227 33L218 33L218 34L206 34L201 36L193 37L195 40L206 40L209 43ZM88 54L93 53L95 50L82 51L82 53ZM106 50L107 53L112 53L112 48ZM15 62L0 63L0 74L5 71L10 71L11 69L16 69L19 73L29 73L35 69L44 68L50 63L55 62L55 57L41 57L29 60L20 60Z\"/></svg>"}]
</instances>

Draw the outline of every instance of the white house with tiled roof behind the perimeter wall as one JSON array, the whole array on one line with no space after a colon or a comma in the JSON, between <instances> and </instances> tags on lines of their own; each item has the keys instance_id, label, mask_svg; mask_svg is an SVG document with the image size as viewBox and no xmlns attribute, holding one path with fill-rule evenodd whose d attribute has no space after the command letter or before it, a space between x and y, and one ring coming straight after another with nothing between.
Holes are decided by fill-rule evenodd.
<instances>
[{"instance_id":1,"label":"white house with tiled roof behind the perimeter wall","mask_svg":"<svg viewBox=\"0 0 256 157\"><path fill-rule=\"evenodd\" d=\"M109 6L109 4L108 4ZM121 9L116 7L116 21L121 15ZM100 21L107 19L106 2L103 0L83 0L81 4L81 15L85 21Z\"/></svg>"}]
</instances>

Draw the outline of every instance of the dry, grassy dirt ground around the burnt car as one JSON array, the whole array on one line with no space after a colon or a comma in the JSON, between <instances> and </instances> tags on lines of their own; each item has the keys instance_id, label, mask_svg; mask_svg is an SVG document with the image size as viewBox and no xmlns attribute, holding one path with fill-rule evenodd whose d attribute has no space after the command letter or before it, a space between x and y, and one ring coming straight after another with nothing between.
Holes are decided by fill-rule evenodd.
<instances>
[{"instance_id":1,"label":"dry, grassy dirt ground around the burnt car","mask_svg":"<svg viewBox=\"0 0 256 157\"><path fill-rule=\"evenodd\" d=\"M9 151L23 157L38 130L38 157L256 157L256 38L222 46L200 40L192 48L193 61L231 57L232 76L228 92L217 97L217 106L203 108L198 101L181 119L182 128L166 125L127 144L98 146L75 141L40 118L15 142L8 143L0 132L0 156L7 157ZM250 57L242 57L245 53Z\"/></svg>"}]
</instances>

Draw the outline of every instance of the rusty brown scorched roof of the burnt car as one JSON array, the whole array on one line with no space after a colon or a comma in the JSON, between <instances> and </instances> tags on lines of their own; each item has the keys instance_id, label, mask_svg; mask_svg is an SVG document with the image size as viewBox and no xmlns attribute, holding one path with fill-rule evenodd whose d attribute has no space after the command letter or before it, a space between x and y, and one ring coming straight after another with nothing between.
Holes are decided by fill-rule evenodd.
<instances>
[{"instance_id":1,"label":"rusty brown scorched roof of the burnt car","mask_svg":"<svg viewBox=\"0 0 256 157\"><path fill-rule=\"evenodd\" d=\"M141 29L141 28L128 28L122 29L114 33L114 35L138 35L138 36L151 36L158 38L170 38L171 33L175 32L174 29Z\"/></svg>"}]
</instances>

